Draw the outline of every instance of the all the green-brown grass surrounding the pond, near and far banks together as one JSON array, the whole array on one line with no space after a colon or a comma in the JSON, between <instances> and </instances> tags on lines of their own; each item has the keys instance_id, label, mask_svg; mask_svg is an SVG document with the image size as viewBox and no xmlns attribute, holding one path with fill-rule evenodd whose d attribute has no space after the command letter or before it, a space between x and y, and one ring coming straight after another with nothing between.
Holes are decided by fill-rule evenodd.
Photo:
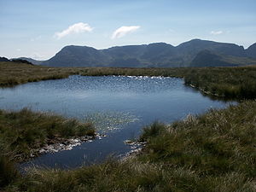
<instances>
[{"instance_id":1,"label":"all the green-brown grass surrounding the pond, near and far banks together","mask_svg":"<svg viewBox=\"0 0 256 192\"><path fill-rule=\"evenodd\" d=\"M71 69L6 65L0 63L1 86L70 74L147 75L183 78L185 84L213 96L256 97L256 67ZM107 160L74 170L32 169L26 176L17 172L14 160L26 158L33 148L49 139L84 134L82 127L76 120L28 109L17 113L0 110L0 188L39 192L256 191L255 100L189 115L172 125L154 122L143 129L140 137L147 142L143 154L129 160ZM92 132L89 129L88 133Z\"/></svg>"}]
</instances>

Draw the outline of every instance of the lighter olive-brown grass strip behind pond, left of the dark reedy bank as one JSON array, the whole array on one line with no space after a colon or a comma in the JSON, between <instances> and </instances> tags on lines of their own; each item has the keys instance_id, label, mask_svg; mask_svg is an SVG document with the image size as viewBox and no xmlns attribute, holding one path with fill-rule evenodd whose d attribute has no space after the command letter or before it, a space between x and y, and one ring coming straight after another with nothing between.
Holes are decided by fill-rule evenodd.
<instances>
[{"instance_id":1,"label":"lighter olive-brown grass strip behind pond, left of the dark reedy bank","mask_svg":"<svg viewBox=\"0 0 256 192\"><path fill-rule=\"evenodd\" d=\"M111 67L44 67L26 63L0 61L0 87L14 86L47 79L64 79L69 75L154 75L182 77L185 69L111 68Z\"/></svg>"}]
</instances>

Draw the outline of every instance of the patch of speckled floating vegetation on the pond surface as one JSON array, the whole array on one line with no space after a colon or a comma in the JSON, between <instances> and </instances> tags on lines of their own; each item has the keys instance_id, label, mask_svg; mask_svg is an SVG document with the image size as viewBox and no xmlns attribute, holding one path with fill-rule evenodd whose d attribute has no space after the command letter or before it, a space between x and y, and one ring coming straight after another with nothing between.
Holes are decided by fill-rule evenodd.
<instances>
[{"instance_id":1,"label":"patch of speckled floating vegetation on the pond surface","mask_svg":"<svg viewBox=\"0 0 256 192\"><path fill-rule=\"evenodd\" d=\"M101 133L120 130L125 125L139 120L131 113L113 111L88 113L84 118L86 122L90 121L93 123L96 131Z\"/></svg>"}]
</instances>

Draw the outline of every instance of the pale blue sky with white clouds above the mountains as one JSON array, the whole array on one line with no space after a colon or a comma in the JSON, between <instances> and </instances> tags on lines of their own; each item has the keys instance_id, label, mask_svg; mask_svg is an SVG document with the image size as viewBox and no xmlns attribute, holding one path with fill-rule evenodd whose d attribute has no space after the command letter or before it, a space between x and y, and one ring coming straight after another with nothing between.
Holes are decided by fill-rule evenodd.
<instances>
[{"instance_id":1,"label":"pale blue sky with white clouds above the mountains","mask_svg":"<svg viewBox=\"0 0 256 192\"><path fill-rule=\"evenodd\" d=\"M66 45L106 49L193 38L256 42L256 0L0 0L0 56L47 60Z\"/></svg>"}]
</instances>

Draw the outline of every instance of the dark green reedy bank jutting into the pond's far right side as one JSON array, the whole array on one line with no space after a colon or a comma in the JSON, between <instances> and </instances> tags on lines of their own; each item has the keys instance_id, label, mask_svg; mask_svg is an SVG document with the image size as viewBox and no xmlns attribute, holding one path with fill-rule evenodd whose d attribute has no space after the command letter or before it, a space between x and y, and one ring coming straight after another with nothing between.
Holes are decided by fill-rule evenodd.
<instances>
[{"instance_id":1,"label":"dark green reedy bank jutting into the pond's far right side","mask_svg":"<svg viewBox=\"0 0 256 192\"><path fill-rule=\"evenodd\" d=\"M256 98L256 67L192 68L184 75L184 81L218 97Z\"/></svg>"}]
</instances>

